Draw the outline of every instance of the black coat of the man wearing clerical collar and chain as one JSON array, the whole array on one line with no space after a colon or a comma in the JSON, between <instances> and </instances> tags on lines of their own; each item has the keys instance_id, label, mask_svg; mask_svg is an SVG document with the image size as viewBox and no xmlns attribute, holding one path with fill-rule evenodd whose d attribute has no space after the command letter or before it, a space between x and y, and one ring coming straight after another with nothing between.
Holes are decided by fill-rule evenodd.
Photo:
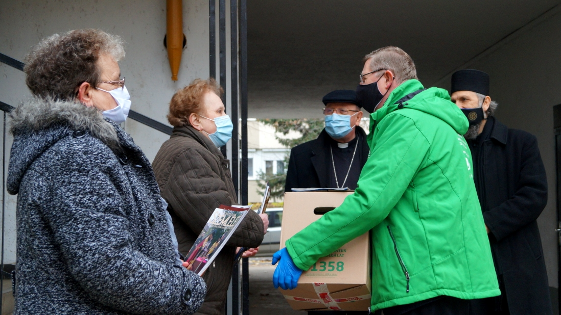
<instances>
[{"instance_id":1,"label":"black coat of the man wearing clerical collar and chain","mask_svg":"<svg viewBox=\"0 0 561 315\"><path fill-rule=\"evenodd\" d=\"M370 148L366 142L366 133L362 128L356 126L356 133L360 137L357 143L360 168L364 167ZM331 156L329 154L330 137L323 129L318 138L297 145L290 151L288 171L286 173L286 184L284 191L292 188L328 188L329 172L333 172Z\"/></svg>"}]
</instances>

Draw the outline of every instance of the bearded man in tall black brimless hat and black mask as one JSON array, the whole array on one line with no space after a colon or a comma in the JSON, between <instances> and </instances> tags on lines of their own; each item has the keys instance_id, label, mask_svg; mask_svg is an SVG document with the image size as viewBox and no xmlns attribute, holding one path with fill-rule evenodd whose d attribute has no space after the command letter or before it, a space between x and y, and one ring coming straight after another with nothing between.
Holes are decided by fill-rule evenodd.
<instances>
[{"instance_id":1,"label":"bearded man in tall black brimless hat and black mask","mask_svg":"<svg viewBox=\"0 0 561 315\"><path fill-rule=\"evenodd\" d=\"M537 140L509 129L494 113L489 75L452 74L452 102L466 115L473 180L502 295L471 300L471 314L551 314L548 277L536 219L548 200Z\"/></svg>"}]
</instances>

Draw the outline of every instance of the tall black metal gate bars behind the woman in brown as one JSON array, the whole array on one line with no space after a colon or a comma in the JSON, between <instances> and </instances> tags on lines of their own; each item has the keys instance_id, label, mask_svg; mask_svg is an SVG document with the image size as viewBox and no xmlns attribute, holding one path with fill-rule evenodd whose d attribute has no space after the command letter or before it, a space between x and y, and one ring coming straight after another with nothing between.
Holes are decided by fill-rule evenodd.
<instances>
[{"instance_id":1,"label":"tall black metal gate bars behind the woman in brown","mask_svg":"<svg viewBox=\"0 0 561 315\"><path fill-rule=\"evenodd\" d=\"M229 1L230 25L226 25L226 0L218 0L218 39L219 58L216 55L217 35L217 0L209 0L209 72L210 77L216 78L217 59L219 64L220 86L227 91L226 68L230 65L231 84L230 105L228 106L227 93L222 101L227 106L227 111L232 117L234 129L232 131L232 144L230 153L227 146L222 147L224 156L228 156L232 163L232 178L237 199L240 204L247 204L247 0ZM226 36L230 33L230 60L227 60ZM241 121L241 130L238 128ZM241 135L241 137L240 137ZM241 148L241 150L240 150ZM241 157L240 157L241 153ZM242 258L241 270L236 265L232 272L231 289L228 290L228 315L249 314L249 260ZM241 276L241 278L240 278ZM241 283L240 283L241 280ZM241 288L240 288L241 284ZM240 290L241 289L241 290ZM240 300L241 298L241 300ZM240 303L241 302L241 303Z\"/></svg>"}]
</instances>

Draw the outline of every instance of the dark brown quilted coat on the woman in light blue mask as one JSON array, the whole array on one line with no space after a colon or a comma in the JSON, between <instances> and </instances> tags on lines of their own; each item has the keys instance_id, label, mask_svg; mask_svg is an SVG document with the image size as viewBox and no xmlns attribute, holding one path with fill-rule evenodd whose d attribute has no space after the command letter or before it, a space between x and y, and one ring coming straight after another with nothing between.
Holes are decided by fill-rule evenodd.
<instances>
[{"instance_id":1,"label":"dark brown quilted coat on the woman in light blue mask","mask_svg":"<svg viewBox=\"0 0 561 315\"><path fill-rule=\"evenodd\" d=\"M237 202L229 161L210 139L186 126L173 129L158 151L153 168L162 197L169 204L179 251L186 255L214 209ZM236 246L257 247L263 234L263 221L250 211L206 270L206 298L196 314L224 314Z\"/></svg>"}]
</instances>

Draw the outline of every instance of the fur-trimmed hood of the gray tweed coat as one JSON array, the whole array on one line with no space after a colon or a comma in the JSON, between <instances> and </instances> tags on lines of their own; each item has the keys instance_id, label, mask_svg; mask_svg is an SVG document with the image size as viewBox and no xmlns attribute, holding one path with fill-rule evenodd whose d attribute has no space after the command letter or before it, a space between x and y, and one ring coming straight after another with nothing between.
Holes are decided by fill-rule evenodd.
<instances>
[{"instance_id":1,"label":"fur-trimmed hood of the gray tweed coat","mask_svg":"<svg viewBox=\"0 0 561 315\"><path fill-rule=\"evenodd\" d=\"M78 102L33 98L10 113L13 135L7 189L17 194L27 168L48 148L75 130L100 139L113 152L121 151L117 125L99 110Z\"/></svg>"}]
</instances>

